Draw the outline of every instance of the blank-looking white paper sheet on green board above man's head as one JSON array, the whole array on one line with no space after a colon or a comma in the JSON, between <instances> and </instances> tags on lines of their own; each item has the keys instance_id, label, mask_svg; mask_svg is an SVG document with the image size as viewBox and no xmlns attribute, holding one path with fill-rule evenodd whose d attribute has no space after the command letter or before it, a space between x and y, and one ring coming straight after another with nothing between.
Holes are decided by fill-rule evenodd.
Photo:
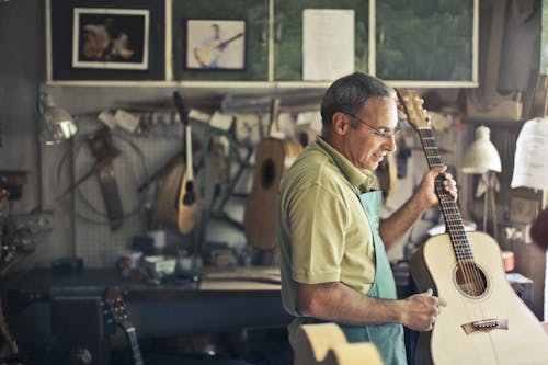
<instances>
[{"instance_id":1,"label":"blank-looking white paper sheet on green board above man's head","mask_svg":"<svg viewBox=\"0 0 548 365\"><path fill-rule=\"evenodd\" d=\"M354 71L354 10L302 11L302 79L331 81Z\"/></svg>"}]
</instances>

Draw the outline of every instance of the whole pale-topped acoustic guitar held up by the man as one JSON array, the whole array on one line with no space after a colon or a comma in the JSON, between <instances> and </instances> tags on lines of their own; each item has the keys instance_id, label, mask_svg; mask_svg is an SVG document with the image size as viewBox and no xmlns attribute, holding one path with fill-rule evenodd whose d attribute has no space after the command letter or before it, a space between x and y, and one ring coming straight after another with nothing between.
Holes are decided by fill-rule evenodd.
<instances>
[{"instance_id":1,"label":"whole pale-topped acoustic guitar held up by the man","mask_svg":"<svg viewBox=\"0 0 548 365\"><path fill-rule=\"evenodd\" d=\"M430 168L443 166L423 101L413 90L397 92ZM432 331L420 332L416 364L548 364L548 337L507 282L498 243L487 233L465 231L443 175L435 190L447 232L412 253L411 274L420 290L433 288L447 307Z\"/></svg>"}]
</instances>

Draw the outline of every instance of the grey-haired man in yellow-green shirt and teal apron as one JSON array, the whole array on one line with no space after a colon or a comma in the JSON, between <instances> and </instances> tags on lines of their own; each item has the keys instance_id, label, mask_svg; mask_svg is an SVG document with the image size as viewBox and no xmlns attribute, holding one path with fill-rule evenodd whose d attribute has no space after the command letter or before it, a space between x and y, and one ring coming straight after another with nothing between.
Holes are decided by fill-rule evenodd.
<instances>
[{"instance_id":1,"label":"grey-haired man in yellow-green shirt and teal apron","mask_svg":"<svg viewBox=\"0 0 548 365\"><path fill-rule=\"evenodd\" d=\"M431 330L446 304L431 289L397 300L385 250L438 204L434 179L445 168L426 172L414 195L379 221L373 171L396 150L393 89L365 73L345 76L326 92L321 116L321 136L293 163L277 197L282 299L295 316L289 342L295 347L299 324L336 322L350 342L374 342L385 364L404 364L402 326ZM456 198L449 174L445 189Z\"/></svg>"}]
</instances>

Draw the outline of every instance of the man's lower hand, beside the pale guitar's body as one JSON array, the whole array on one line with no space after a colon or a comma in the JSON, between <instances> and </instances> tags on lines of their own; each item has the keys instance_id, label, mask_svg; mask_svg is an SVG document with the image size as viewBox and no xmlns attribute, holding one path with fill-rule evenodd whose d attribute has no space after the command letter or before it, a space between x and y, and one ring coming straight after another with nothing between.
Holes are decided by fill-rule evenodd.
<instances>
[{"instance_id":1,"label":"man's lower hand, beside the pale guitar's body","mask_svg":"<svg viewBox=\"0 0 548 365\"><path fill-rule=\"evenodd\" d=\"M402 313L401 323L416 331L430 331L442 311L446 307L445 299L432 295L432 289L415 294L404 299L407 310Z\"/></svg>"}]
</instances>

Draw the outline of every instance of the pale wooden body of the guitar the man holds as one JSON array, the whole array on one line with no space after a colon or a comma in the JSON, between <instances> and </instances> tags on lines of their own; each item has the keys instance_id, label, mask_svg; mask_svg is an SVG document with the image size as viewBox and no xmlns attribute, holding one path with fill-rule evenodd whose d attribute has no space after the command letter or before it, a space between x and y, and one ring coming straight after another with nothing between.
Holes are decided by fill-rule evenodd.
<instances>
[{"instance_id":1,"label":"pale wooden body of the guitar the man holds","mask_svg":"<svg viewBox=\"0 0 548 365\"><path fill-rule=\"evenodd\" d=\"M432 332L419 335L416 364L548 364L548 335L507 282L499 244L483 232L467 236L487 281L483 293L469 295L459 286L448 235L429 239L411 256L419 288L435 288L447 300ZM507 321L507 328L463 328L482 320Z\"/></svg>"}]
</instances>

